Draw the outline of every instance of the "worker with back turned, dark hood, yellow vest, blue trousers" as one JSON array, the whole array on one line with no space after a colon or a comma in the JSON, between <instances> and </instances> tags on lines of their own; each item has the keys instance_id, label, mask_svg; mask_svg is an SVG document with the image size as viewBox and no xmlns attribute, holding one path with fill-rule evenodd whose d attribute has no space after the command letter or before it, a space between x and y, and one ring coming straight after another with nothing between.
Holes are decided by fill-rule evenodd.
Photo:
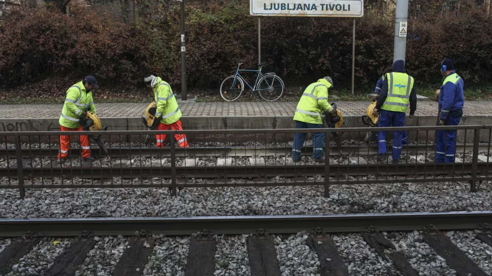
<instances>
[{"instance_id":1,"label":"worker with back turned, dark hood, yellow vest, blue trousers","mask_svg":"<svg viewBox=\"0 0 492 276\"><path fill-rule=\"evenodd\" d=\"M402 127L405 122L405 113L410 104L410 118L417 109L417 92L414 80L405 73L405 62L401 59L395 61L391 66L392 73L386 74L381 93L377 99L374 113L380 112L378 127ZM401 156L402 131L395 131L393 137L393 164L398 164ZM379 132L379 163L386 159L386 132Z\"/></svg>"}]
</instances>

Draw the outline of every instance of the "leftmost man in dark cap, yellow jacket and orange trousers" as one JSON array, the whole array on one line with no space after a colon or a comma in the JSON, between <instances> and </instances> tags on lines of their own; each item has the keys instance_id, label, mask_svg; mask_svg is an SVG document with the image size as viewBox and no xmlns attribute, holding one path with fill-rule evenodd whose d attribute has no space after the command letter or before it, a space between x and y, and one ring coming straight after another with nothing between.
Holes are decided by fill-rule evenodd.
<instances>
[{"instance_id":1,"label":"leftmost man in dark cap, yellow jacket and orange trousers","mask_svg":"<svg viewBox=\"0 0 492 276\"><path fill-rule=\"evenodd\" d=\"M60 131L82 131L79 123L80 118L84 118L86 113L83 111L87 107L95 114L94 101L92 99L92 89L99 87L97 81L92 76L87 76L84 80L70 86L66 91L65 103L63 104L62 115L60 116ZM70 139L68 135L60 136L60 152L57 157L57 163L62 164L70 148ZM92 162L90 142L87 135L81 135L80 146L82 147L82 158L86 162Z\"/></svg>"}]
</instances>

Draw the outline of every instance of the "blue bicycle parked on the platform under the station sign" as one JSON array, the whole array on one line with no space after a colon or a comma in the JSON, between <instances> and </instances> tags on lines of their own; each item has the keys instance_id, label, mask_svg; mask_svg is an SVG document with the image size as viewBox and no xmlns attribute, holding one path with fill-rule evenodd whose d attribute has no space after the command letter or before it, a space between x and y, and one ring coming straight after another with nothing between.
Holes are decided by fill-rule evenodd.
<instances>
[{"instance_id":1,"label":"blue bicycle parked on the platform under the station sign","mask_svg":"<svg viewBox=\"0 0 492 276\"><path fill-rule=\"evenodd\" d=\"M283 93L283 81L275 73L266 73L263 75L261 73L261 68L266 62L258 63L260 66L259 70L240 70L239 67L243 63L239 63L236 74L225 78L225 80L220 84L220 96L227 102L233 102L237 100L244 91L245 83L253 92L258 91L260 97L269 102L277 101ZM239 72L256 72L256 81L251 87L249 83L245 80ZM237 94L237 96L236 96ZM277 96L278 94L278 96Z\"/></svg>"}]
</instances>

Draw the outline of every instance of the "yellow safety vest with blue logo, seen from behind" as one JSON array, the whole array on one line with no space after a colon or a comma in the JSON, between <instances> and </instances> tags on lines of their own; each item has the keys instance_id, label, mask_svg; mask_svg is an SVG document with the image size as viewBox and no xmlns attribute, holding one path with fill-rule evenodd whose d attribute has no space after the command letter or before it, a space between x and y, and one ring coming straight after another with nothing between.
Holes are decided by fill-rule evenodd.
<instances>
[{"instance_id":1,"label":"yellow safety vest with blue logo, seen from behind","mask_svg":"<svg viewBox=\"0 0 492 276\"><path fill-rule=\"evenodd\" d=\"M388 73L388 96L381 109L406 112L410 103L410 92L413 89L413 78L405 73Z\"/></svg>"}]
</instances>

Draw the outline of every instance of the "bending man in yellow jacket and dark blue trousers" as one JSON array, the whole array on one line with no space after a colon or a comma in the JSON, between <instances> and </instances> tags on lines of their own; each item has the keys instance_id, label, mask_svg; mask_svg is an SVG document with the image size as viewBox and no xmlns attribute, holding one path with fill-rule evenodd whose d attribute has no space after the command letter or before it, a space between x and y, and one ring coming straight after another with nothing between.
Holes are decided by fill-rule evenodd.
<instances>
[{"instance_id":1,"label":"bending man in yellow jacket and dark blue trousers","mask_svg":"<svg viewBox=\"0 0 492 276\"><path fill-rule=\"evenodd\" d=\"M299 103L297 104L294 121L296 129L320 129L323 128L321 114L323 111L328 111L332 115L337 114L328 103L328 89L333 86L333 81L330 77L319 79L316 83L311 83L304 90ZM299 162L301 160L301 149L306 140L307 133L296 133L292 144L292 160ZM312 133L312 158L315 162L325 162L323 158L323 144L325 141L325 133Z\"/></svg>"}]
</instances>

